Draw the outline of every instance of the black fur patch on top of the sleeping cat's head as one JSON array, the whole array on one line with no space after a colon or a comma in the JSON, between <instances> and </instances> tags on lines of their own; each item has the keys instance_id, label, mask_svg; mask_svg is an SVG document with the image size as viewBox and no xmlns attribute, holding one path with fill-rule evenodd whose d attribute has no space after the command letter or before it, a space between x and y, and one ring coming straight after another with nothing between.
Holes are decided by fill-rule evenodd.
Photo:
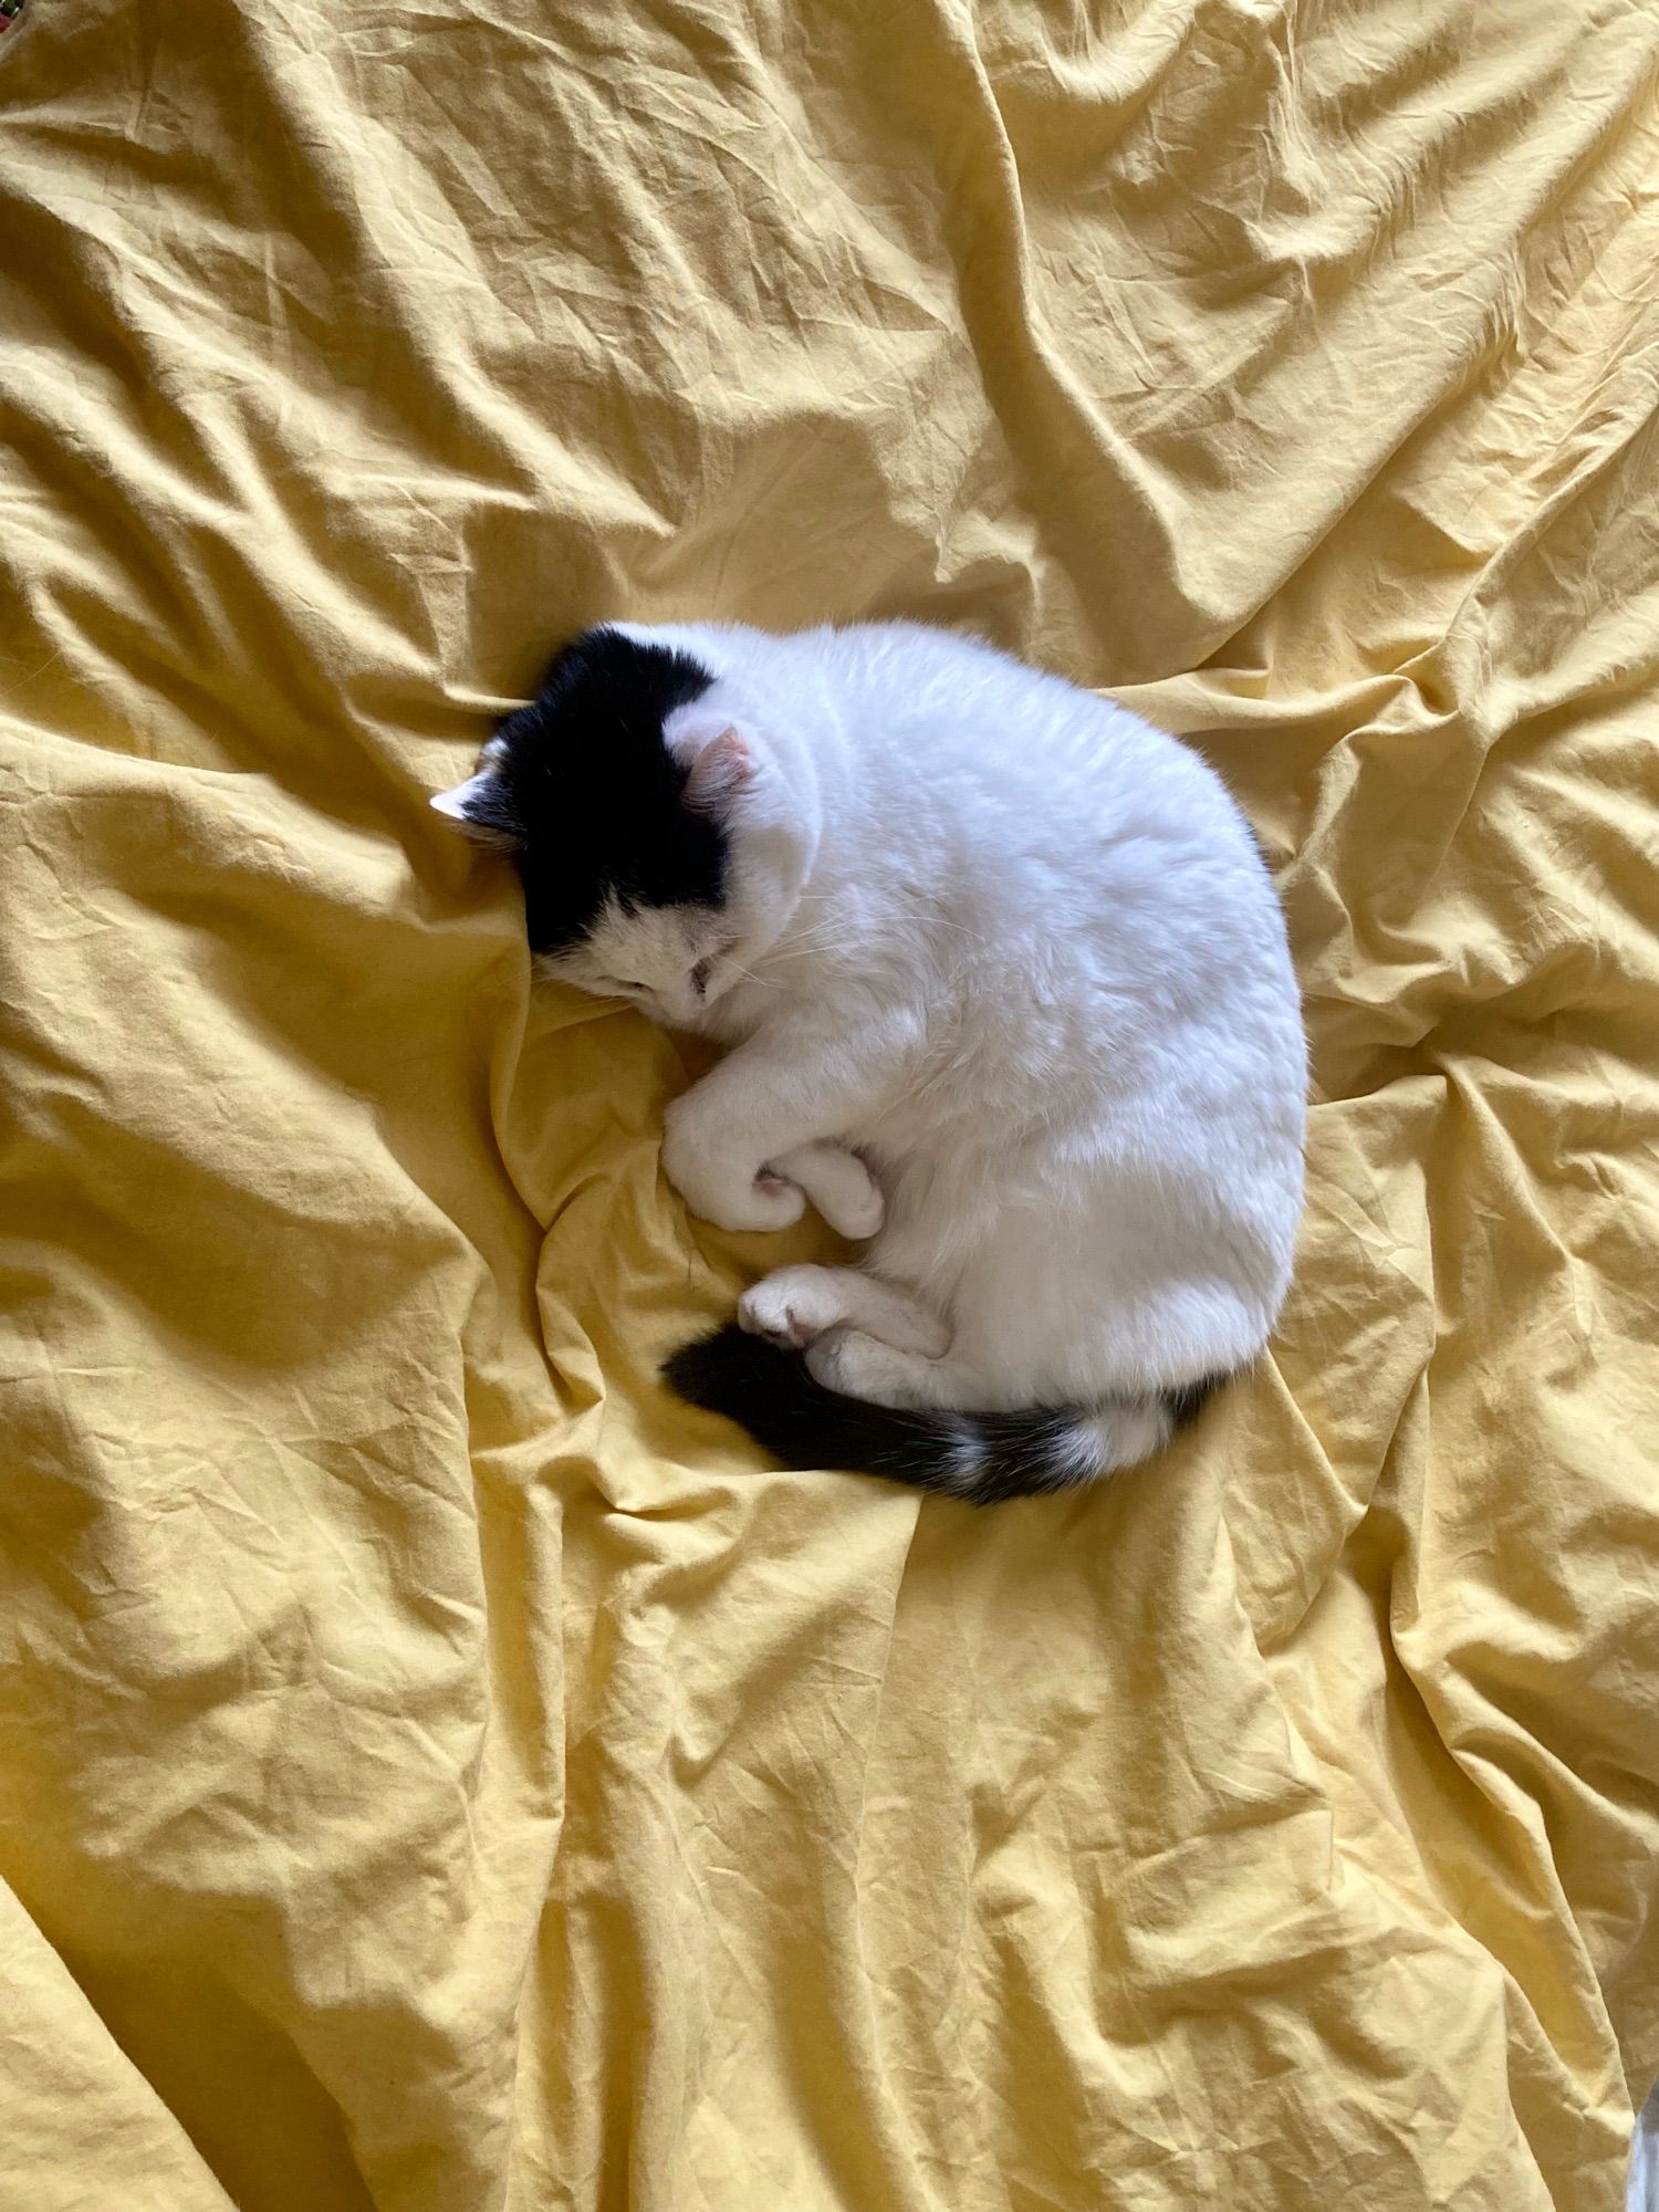
<instances>
[{"instance_id":1,"label":"black fur patch on top of the sleeping cat's head","mask_svg":"<svg viewBox=\"0 0 1659 2212\"><path fill-rule=\"evenodd\" d=\"M575 945L615 894L626 907L719 907L726 832L686 807L688 770L661 741L712 675L688 653L584 630L509 714L469 821L511 841L531 951Z\"/></svg>"}]
</instances>

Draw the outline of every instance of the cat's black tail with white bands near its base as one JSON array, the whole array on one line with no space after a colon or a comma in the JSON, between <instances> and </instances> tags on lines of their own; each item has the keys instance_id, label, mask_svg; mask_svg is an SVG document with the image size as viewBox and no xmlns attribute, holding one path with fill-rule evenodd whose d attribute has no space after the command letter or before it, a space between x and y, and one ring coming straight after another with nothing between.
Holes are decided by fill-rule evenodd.
<instances>
[{"instance_id":1,"label":"cat's black tail with white bands near its base","mask_svg":"<svg viewBox=\"0 0 1659 2212\"><path fill-rule=\"evenodd\" d=\"M664 1367L677 1396L723 1413L785 1467L887 1475L989 1506L1093 1482L1161 1451L1219 1387L1219 1376L1091 1409L900 1413L843 1398L785 1352L737 1325L684 1345Z\"/></svg>"}]
</instances>

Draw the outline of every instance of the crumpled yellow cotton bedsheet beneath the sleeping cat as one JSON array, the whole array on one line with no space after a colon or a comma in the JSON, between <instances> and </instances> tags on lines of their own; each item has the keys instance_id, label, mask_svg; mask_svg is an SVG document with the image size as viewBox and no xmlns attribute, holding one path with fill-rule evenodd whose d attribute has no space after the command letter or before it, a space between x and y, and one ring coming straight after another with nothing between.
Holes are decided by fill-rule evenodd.
<instances>
[{"instance_id":1,"label":"crumpled yellow cotton bedsheet beneath the sleeping cat","mask_svg":"<svg viewBox=\"0 0 1659 2212\"><path fill-rule=\"evenodd\" d=\"M2 2212L1573 2212L1659 2068L1646 0L31 0L0 42ZM608 613L1197 737L1301 1281L973 1517L425 796Z\"/></svg>"}]
</instances>

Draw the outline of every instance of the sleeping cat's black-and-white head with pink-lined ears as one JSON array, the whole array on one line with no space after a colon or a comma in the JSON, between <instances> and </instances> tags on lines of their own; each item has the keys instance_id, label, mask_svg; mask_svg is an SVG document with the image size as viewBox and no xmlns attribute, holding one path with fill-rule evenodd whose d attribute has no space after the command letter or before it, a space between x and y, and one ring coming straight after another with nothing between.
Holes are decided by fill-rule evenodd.
<instances>
[{"instance_id":1,"label":"sleeping cat's black-and-white head with pink-lined ears","mask_svg":"<svg viewBox=\"0 0 1659 2212\"><path fill-rule=\"evenodd\" d=\"M776 902L776 783L714 677L648 635L586 630L431 803L509 849L542 969L699 1026Z\"/></svg>"}]
</instances>

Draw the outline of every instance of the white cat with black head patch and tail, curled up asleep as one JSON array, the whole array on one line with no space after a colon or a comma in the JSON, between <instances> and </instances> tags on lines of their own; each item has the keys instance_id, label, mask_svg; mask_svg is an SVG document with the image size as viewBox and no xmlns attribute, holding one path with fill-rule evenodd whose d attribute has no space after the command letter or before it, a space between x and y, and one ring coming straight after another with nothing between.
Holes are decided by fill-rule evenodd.
<instances>
[{"instance_id":1,"label":"white cat with black head patch and tail, curled up asleep","mask_svg":"<svg viewBox=\"0 0 1659 2212\"><path fill-rule=\"evenodd\" d=\"M869 1239L664 1369L787 1467L1064 1489L1267 1343L1301 1004L1177 739L916 624L615 622L434 805L515 856L544 973L730 1046L666 1115L695 1214Z\"/></svg>"}]
</instances>

